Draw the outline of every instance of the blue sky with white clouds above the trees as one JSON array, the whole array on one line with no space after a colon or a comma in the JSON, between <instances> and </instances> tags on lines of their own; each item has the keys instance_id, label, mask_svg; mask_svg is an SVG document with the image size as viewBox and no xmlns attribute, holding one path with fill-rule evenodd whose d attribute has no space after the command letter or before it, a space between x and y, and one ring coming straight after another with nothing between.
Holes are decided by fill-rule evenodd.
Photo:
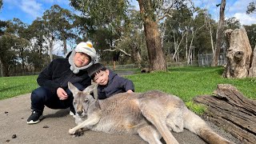
<instances>
[{"instance_id":1,"label":"blue sky with white clouds above the trees","mask_svg":"<svg viewBox=\"0 0 256 144\"><path fill-rule=\"evenodd\" d=\"M138 2L133 1L138 7ZM195 6L207 8L212 18L218 21L219 7L216 4L221 0L193 0L193 2ZM226 18L238 18L242 25L256 24L256 14L246 14L246 8L250 2L254 0L226 0ZM75 12L69 3L69 0L3 0L0 20L19 18L22 22L31 24L37 17L42 17L43 12L49 10L54 4Z\"/></svg>"}]
</instances>

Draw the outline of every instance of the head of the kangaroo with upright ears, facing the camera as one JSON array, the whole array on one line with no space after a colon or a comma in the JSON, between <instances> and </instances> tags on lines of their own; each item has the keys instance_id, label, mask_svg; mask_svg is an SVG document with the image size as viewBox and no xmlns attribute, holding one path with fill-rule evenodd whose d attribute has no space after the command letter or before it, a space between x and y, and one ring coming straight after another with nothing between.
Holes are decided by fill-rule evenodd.
<instances>
[{"instance_id":1,"label":"head of the kangaroo with upright ears, facing the camera","mask_svg":"<svg viewBox=\"0 0 256 144\"><path fill-rule=\"evenodd\" d=\"M86 87L85 90L80 91L71 82L68 82L69 90L72 92L74 97L74 110L80 117L84 117L86 115L90 102L94 101L94 98L90 93L94 89L97 89L97 86L97 84L91 85Z\"/></svg>"}]
</instances>

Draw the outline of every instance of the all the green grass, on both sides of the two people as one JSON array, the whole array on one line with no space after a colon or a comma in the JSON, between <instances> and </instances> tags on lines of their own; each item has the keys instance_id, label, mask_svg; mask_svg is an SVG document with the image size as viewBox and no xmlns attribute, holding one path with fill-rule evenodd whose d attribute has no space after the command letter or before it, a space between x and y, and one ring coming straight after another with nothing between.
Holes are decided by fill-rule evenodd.
<instances>
[{"instance_id":1,"label":"all the green grass, on both sides of the two people","mask_svg":"<svg viewBox=\"0 0 256 144\"><path fill-rule=\"evenodd\" d=\"M231 84L247 98L256 99L256 78L230 79L222 78L222 67L173 67L169 72L154 72L150 74L128 75L134 82L136 92L147 90L162 90L168 94L177 95L198 114L205 109L192 102L198 95L210 95L218 84ZM0 78L0 99L11 98L19 94L27 94L38 87L37 76L22 76Z\"/></svg>"}]
</instances>

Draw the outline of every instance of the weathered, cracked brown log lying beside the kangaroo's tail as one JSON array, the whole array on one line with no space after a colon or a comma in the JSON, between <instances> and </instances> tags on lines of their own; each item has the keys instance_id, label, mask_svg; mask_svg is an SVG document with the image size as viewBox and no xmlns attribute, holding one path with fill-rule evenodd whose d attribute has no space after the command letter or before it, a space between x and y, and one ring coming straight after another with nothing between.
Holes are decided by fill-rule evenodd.
<instances>
[{"instance_id":1,"label":"weathered, cracked brown log lying beside the kangaroo's tail","mask_svg":"<svg viewBox=\"0 0 256 144\"><path fill-rule=\"evenodd\" d=\"M214 95L197 96L193 100L207 106L203 118L242 143L256 142L256 101L244 97L234 86L219 84Z\"/></svg>"}]
</instances>

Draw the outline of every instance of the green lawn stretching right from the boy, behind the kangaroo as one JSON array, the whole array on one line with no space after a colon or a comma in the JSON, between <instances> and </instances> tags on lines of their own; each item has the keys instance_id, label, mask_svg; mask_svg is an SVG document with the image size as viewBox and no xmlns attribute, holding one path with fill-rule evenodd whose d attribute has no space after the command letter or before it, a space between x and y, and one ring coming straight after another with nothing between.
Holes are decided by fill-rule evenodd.
<instances>
[{"instance_id":1,"label":"green lawn stretching right from the boy, behind the kangaroo","mask_svg":"<svg viewBox=\"0 0 256 144\"><path fill-rule=\"evenodd\" d=\"M218 84L231 84L246 97L256 98L256 78L222 78L222 67L174 67L169 72L126 76L137 92L162 90L190 102L197 95L212 94Z\"/></svg>"}]
</instances>

